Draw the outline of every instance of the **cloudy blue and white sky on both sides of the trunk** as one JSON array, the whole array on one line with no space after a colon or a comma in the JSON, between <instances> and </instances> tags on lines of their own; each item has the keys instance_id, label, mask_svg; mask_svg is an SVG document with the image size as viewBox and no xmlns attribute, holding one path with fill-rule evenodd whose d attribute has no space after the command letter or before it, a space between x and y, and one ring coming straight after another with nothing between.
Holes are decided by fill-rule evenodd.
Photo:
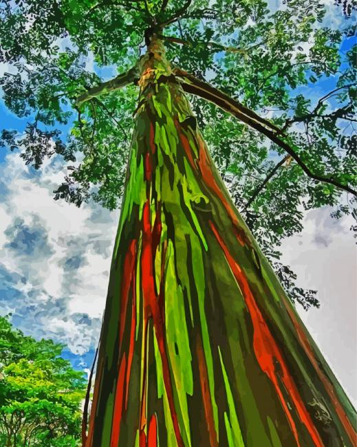
<instances>
[{"instance_id":1,"label":"cloudy blue and white sky on both sides of the trunk","mask_svg":"<svg viewBox=\"0 0 357 447\"><path fill-rule=\"evenodd\" d=\"M6 69L0 66L0 76ZM328 88L321 84L312 99ZM1 100L0 117L3 128L25 127ZM19 153L0 149L0 312L11 313L25 334L65 343L63 356L87 369L98 342L119 210L54 201L65 174L59 156L35 171ZM320 309L297 309L356 406L357 253L351 218L336 221L330 212L306 212L303 231L285 239L281 251L299 284L318 290Z\"/></svg>"}]
</instances>

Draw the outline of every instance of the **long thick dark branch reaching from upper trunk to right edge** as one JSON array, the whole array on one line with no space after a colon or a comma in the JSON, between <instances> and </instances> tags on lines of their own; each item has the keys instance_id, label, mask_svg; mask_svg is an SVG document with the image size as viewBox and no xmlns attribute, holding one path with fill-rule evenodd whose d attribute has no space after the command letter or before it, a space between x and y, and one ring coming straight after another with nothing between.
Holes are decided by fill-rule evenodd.
<instances>
[{"instance_id":1,"label":"long thick dark branch reaching from upper trunk to right edge","mask_svg":"<svg viewBox=\"0 0 357 447\"><path fill-rule=\"evenodd\" d=\"M222 91L219 91L208 83L195 78L195 76L186 74L181 70L176 70L175 76L182 79L182 88L187 93L200 96L201 98L213 102L213 104L217 105L224 111L231 113L242 122L248 124L250 127L252 127L252 129L255 129L263 133L263 135L266 135L272 142L280 146L282 149L284 149L285 152L291 155L291 157L296 161L297 164L299 164L305 174L307 174L309 177L318 180L319 182L325 182L334 185L336 186L336 188L347 191L347 193L357 195L354 189L352 189L348 185L341 184L332 176L326 177L325 175L318 175L316 173L313 173L305 164L305 162L301 160L301 157L298 153L296 153L293 147L288 142L281 139L281 136L279 136L279 133L281 134L281 129L279 129L279 127L270 123L268 120L261 118L259 115L257 115L257 113L248 109L247 107L244 107L237 100L230 98L230 96L224 94Z\"/></svg>"}]
</instances>

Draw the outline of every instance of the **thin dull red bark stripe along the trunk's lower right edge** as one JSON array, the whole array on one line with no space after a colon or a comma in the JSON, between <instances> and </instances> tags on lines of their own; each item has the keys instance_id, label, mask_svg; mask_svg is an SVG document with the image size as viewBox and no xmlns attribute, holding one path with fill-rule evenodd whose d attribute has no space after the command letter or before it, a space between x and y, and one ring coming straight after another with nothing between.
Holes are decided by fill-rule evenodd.
<instances>
[{"instance_id":1,"label":"thin dull red bark stripe along the trunk's lower right edge","mask_svg":"<svg viewBox=\"0 0 357 447\"><path fill-rule=\"evenodd\" d=\"M336 410L336 413L338 414L338 417L340 418L340 422L343 425L343 428L345 428L345 431L346 431L351 443L353 445L357 445L356 444L356 439L357 439L356 430L355 430L354 426L352 426L351 422L349 421L349 419L345 413L345 410L343 409L342 405L338 401L338 398L336 396L336 393L334 392L332 383L329 382L328 378L325 376L323 371L321 371L321 368L318 366L318 362L316 361L314 351L312 350L312 347L310 345L309 340L307 339L306 334L304 334L303 330L301 329L301 327L299 325L299 322L296 320L296 316L294 315L294 312L292 312L292 309L290 309L289 305L287 305L287 304L285 304L285 308L287 309L288 314L292 320L292 324L294 325L296 333L299 336L301 345L303 345L305 352L307 353L307 357L310 359L310 362L312 363L312 365L318 375L318 378L321 380L321 382L323 382L325 389L326 389L330 399L332 400L332 404L334 404L334 408Z\"/></svg>"}]
</instances>

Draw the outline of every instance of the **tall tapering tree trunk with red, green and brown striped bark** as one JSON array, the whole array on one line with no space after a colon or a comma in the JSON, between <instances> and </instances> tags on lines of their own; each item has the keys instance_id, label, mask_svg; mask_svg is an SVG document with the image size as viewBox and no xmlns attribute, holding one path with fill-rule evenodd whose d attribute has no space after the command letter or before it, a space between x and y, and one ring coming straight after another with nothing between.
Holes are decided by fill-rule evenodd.
<instances>
[{"instance_id":1,"label":"tall tapering tree trunk with red, green and brown striped bark","mask_svg":"<svg viewBox=\"0 0 357 447\"><path fill-rule=\"evenodd\" d=\"M355 446L158 39L141 64L86 447Z\"/></svg>"}]
</instances>

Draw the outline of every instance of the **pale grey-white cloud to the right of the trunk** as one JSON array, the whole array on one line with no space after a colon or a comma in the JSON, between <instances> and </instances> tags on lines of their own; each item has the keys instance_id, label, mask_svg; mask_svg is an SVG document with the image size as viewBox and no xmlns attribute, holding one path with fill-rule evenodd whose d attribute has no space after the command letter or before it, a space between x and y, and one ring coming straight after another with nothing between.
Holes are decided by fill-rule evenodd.
<instances>
[{"instance_id":1,"label":"pale grey-white cloud to the right of the trunk","mask_svg":"<svg viewBox=\"0 0 357 447\"><path fill-rule=\"evenodd\" d=\"M349 230L353 219L336 221L330 212L326 207L307 213L303 231L283 242L282 261L296 272L299 284L318 290L320 309L296 309L356 406L357 250Z\"/></svg>"}]
</instances>

